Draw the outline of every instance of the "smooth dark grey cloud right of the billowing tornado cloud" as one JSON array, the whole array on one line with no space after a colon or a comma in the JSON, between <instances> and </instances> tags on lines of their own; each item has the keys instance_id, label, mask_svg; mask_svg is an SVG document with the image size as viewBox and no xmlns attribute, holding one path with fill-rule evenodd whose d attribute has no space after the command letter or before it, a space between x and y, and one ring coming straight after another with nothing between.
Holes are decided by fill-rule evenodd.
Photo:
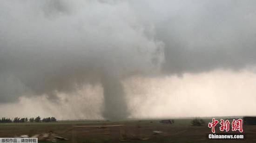
<instances>
[{"instance_id":1,"label":"smooth dark grey cloud right of the billowing tornado cloud","mask_svg":"<svg viewBox=\"0 0 256 143\"><path fill-rule=\"evenodd\" d=\"M153 1L147 6L150 12L140 14L141 20L153 24L155 38L165 44L165 72L255 64L255 0Z\"/></svg>"}]
</instances>

